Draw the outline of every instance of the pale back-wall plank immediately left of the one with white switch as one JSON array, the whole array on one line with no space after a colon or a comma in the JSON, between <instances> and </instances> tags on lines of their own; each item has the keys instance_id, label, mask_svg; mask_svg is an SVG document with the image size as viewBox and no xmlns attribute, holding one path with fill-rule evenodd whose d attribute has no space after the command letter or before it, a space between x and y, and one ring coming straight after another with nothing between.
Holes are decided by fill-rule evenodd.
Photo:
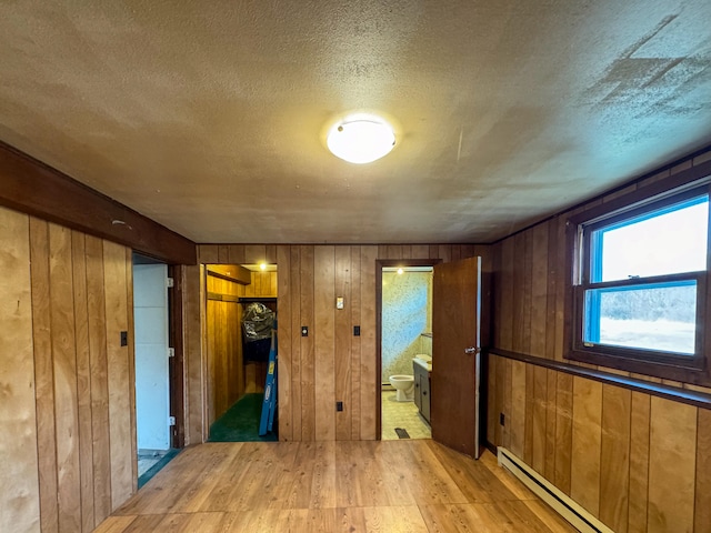
<instances>
[{"instance_id":1,"label":"pale back-wall plank immediately left of the one with white switch","mask_svg":"<svg viewBox=\"0 0 711 533\"><path fill-rule=\"evenodd\" d=\"M336 438L336 257L334 247L313 253L316 440Z\"/></svg>"}]
</instances>

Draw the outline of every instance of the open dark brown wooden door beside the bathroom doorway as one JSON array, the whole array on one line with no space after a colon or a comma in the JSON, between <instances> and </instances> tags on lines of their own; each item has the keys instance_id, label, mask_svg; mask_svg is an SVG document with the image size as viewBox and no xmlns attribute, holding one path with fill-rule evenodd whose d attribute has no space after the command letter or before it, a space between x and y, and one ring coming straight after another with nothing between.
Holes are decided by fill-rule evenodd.
<instances>
[{"instance_id":1,"label":"open dark brown wooden door beside the bathroom doorway","mask_svg":"<svg viewBox=\"0 0 711 533\"><path fill-rule=\"evenodd\" d=\"M434 266L432 439L479 457L481 258Z\"/></svg>"}]
</instances>

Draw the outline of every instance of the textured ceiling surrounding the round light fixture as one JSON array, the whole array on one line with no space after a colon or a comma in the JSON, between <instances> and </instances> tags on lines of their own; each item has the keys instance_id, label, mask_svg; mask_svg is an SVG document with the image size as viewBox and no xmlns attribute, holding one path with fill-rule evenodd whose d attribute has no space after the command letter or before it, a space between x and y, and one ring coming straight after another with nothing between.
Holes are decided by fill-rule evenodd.
<instances>
[{"instance_id":1,"label":"textured ceiling surrounding the round light fixture","mask_svg":"<svg viewBox=\"0 0 711 533\"><path fill-rule=\"evenodd\" d=\"M0 140L197 242L490 242L711 142L711 2L0 2ZM398 144L324 148L348 111Z\"/></svg>"}]
</instances>

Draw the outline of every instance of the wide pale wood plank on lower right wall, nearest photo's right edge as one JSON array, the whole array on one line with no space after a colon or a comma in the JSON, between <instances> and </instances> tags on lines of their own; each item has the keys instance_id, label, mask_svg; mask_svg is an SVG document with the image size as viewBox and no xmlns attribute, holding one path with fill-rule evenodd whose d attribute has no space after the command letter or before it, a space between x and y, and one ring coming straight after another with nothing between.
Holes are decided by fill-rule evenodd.
<instances>
[{"instance_id":1,"label":"wide pale wood plank on lower right wall, nearest photo's right edge","mask_svg":"<svg viewBox=\"0 0 711 533\"><path fill-rule=\"evenodd\" d=\"M697 408L653 396L649 450L648 531L692 531Z\"/></svg>"}]
</instances>

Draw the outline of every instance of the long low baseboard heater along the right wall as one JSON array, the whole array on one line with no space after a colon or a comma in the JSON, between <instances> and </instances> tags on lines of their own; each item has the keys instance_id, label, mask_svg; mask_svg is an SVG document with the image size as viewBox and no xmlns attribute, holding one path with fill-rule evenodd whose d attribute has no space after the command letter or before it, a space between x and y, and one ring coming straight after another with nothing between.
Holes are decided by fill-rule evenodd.
<instances>
[{"instance_id":1,"label":"long low baseboard heater along the right wall","mask_svg":"<svg viewBox=\"0 0 711 533\"><path fill-rule=\"evenodd\" d=\"M498 449L498 459L501 466L521 480L573 527L582 533L614 533L505 447Z\"/></svg>"}]
</instances>

